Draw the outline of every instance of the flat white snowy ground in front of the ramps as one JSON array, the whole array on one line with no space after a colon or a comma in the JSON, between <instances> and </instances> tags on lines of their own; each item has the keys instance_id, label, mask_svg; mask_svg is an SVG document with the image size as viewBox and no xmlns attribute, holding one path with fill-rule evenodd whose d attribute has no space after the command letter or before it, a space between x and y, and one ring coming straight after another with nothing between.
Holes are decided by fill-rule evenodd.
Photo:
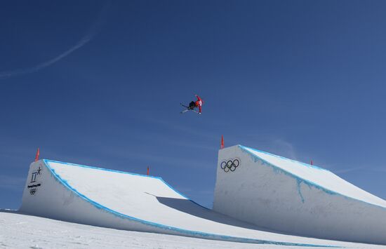
<instances>
[{"instance_id":1,"label":"flat white snowy ground in front of the ramps","mask_svg":"<svg viewBox=\"0 0 386 249\"><path fill-rule=\"evenodd\" d=\"M307 238L305 238L307 240ZM307 241L305 241L307 243ZM121 231L0 210L0 248L302 248ZM347 243L347 248L386 248Z\"/></svg>"}]
</instances>

